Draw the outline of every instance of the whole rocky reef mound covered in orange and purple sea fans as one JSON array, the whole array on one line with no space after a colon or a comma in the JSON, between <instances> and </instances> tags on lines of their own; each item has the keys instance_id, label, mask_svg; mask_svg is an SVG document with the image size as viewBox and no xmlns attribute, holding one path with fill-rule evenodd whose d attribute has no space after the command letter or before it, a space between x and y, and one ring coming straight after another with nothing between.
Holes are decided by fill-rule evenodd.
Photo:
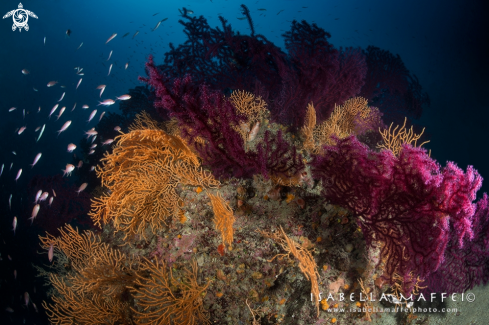
<instances>
[{"instance_id":1,"label":"whole rocky reef mound covered in orange and purple sea fans","mask_svg":"<svg viewBox=\"0 0 489 325\"><path fill-rule=\"evenodd\" d=\"M32 193L55 187L63 222L80 224L91 210L99 226L93 237L45 226L42 246L54 250L44 273L56 288L44 304L51 321L84 324L83 311L106 313L107 324L361 324L382 317L374 307L393 306L382 294L486 284L489 199L475 201L482 177L471 166L441 167L413 142L393 150L379 133L429 105L400 57L334 48L306 21L283 34L284 52L255 33L241 7L249 35L223 17L211 28L182 10L187 41L170 44L161 65L150 56L145 86L97 127L100 138L114 137L114 125L124 134L104 157L87 158L102 159L91 203L86 192L66 194L61 177L32 181ZM111 183L124 168L133 191L146 192ZM155 185L136 181L146 178ZM93 265L67 266L77 257L63 245L75 238L97 247L87 258L110 256L98 276ZM70 283L84 283L94 303L70 296Z\"/></svg>"}]
</instances>

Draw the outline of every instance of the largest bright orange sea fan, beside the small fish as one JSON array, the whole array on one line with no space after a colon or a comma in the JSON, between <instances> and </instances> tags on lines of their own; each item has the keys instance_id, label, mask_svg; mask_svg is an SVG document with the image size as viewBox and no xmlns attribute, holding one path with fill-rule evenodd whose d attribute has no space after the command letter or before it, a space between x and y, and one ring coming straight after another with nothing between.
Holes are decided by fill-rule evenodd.
<instances>
[{"instance_id":1,"label":"largest bright orange sea fan, beside the small fish","mask_svg":"<svg viewBox=\"0 0 489 325\"><path fill-rule=\"evenodd\" d=\"M219 182L203 171L197 156L177 136L162 130L133 130L116 138L111 154L97 174L111 194L93 200L92 216L101 226L113 223L127 236L146 237L181 214L177 184L216 187Z\"/></svg>"}]
</instances>

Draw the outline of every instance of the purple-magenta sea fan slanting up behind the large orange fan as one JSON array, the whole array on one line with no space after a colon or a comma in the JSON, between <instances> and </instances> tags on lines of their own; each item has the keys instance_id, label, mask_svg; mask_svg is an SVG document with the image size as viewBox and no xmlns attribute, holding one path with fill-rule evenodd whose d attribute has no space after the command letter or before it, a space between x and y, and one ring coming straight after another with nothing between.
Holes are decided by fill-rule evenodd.
<instances>
[{"instance_id":1,"label":"purple-magenta sea fan slanting up behind the large orange fan","mask_svg":"<svg viewBox=\"0 0 489 325\"><path fill-rule=\"evenodd\" d=\"M281 132L271 136L267 131L256 152L246 151L241 135L233 128L243 117L220 92L206 85L195 85L189 75L175 79L172 84L151 56L146 70L149 78L140 77L140 80L154 88L155 107L168 110L170 117L178 120L184 138L192 142L197 137L206 140L203 144L196 143L196 149L203 164L216 177L292 176L304 168L302 156Z\"/></svg>"}]
</instances>

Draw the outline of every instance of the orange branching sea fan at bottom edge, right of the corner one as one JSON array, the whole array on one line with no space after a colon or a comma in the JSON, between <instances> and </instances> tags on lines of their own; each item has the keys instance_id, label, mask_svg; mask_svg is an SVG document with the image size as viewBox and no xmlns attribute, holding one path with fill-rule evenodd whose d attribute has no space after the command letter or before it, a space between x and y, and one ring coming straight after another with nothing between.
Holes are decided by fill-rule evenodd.
<instances>
[{"instance_id":1,"label":"orange branching sea fan at bottom edge, right of the corner one","mask_svg":"<svg viewBox=\"0 0 489 325\"><path fill-rule=\"evenodd\" d=\"M184 269L178 277L158 260L155 264L145 260L140 270L132 288L141 307L132 309L138 324L210 324L202 308L202 299L210 283L198 283L195 261L191 270Z\"/></svg>"}]
</instances>

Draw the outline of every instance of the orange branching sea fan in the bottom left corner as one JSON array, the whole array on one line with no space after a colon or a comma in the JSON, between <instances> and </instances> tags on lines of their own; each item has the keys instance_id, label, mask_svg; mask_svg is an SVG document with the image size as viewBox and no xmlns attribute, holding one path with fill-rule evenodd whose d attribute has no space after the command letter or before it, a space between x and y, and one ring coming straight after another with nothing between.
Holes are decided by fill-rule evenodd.
<instances>
[{"instance_id":1,"label":"orange branching sea fan in the bottom left corner","mask_svg":"<svg viewBox=\"0 0 489 325\"><path fill-rule=\"evenodd\" d=\"M130 324L127 287L135 280L134 261L102 243L91 231L71 226L61 236L40 237L43 248L56 247L67 257L67 275L51 273L54 304L43 302L53 324Z\"/></svg>"}]
</instances>

